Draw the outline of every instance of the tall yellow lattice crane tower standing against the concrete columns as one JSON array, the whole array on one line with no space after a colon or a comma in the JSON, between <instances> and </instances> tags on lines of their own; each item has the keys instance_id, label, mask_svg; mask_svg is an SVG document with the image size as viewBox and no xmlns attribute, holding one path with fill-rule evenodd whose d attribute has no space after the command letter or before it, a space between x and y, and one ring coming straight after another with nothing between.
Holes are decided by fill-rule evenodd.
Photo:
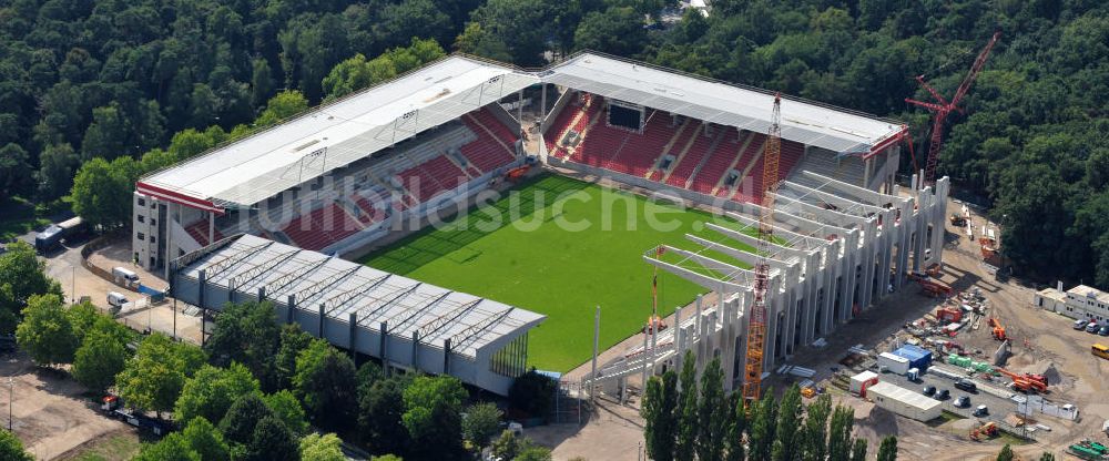
<instances>
[{"instance_id":1,"label":"tall yellow lattice crane tower standing against the concrete columns","mask_svg":"<svg viewBox=\"0 0 1109 461\"><path fill-rule=\"evenodd\" d=\"M763 348L766 342L766 295L770 291L770 245L774 238L774 192L777 191L777 162L782 156L782 95L774 95L766 148L763 151L763 197L759 214L759 263L755 264L754 301L747 324L747 354L744 363L743 399L747 404L759 399L762 389Z\"/></svg>"}]
</instances>

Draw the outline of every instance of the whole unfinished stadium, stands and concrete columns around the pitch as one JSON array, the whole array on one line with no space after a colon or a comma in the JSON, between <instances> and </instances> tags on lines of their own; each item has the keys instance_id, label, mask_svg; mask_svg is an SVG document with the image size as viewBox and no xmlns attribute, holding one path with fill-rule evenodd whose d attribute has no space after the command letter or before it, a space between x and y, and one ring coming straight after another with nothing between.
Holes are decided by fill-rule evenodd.
<instances>
[{"instance_id":1,"label":"whole unfinished stadium, stands and concrete columns around the pitch","mask_svg":"<svg viewBox=\"0 0 1109 461\"><path fill-rule=\"evenodd\" d=\"M452 55L141 178L134 257L164 270L185 303L218 310L268 299L279 319L338 347L503 395L545 316L343 258L465 208L521 165L604 177L757 226L773 99L597 53L541 71ZM783 99L765 367L942 262L948 181L895 184L905 131ZM602 366L598 382L676 366L686 349L720 355L729 387L739 382L756 237L708 226L720 238L685 236L700 249L628 258L723 301L680 309L676 328Z\"/></svg>"}]
</instances>

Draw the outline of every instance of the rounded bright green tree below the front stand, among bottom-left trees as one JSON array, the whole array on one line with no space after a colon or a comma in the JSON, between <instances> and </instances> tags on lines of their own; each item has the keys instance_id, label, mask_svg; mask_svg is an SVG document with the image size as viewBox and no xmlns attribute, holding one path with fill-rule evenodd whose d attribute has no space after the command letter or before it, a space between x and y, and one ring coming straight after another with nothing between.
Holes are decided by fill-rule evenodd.
<instances>
[{"instance_id":1,"label":"rounded bright green tree below the front stand, among bottom-left trees","mask_svg":"<svg viewBox=\"0 0 1109 461\"><path fill-rule=\"evenodd\" d=\"M258 389L258 380L238 362L227 368L205 365L185 382L173 414L181 421L193 418L220 421L232 403L247 393L257 393Z\"/></svg>"}]
</instances>

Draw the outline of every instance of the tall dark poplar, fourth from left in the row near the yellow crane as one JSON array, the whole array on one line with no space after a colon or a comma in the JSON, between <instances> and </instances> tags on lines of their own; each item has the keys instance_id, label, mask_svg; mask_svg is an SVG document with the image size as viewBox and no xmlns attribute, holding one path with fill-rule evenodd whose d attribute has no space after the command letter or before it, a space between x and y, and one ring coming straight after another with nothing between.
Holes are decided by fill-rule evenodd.
<instances>
[{"instance_id":1,"label":"tall dark poplar, fourth from left in the row near the yellow crane","mask_svg":"<svg viewBox=\"0 0 1109 461\"><path fill-rule=\"evenodd\" d=\"M728 404L724 397L724 370L720 358L713 357L701 375L701 398L698 400L698 460L723 460L728 433Z\"/></svg>"}]
</instances>

